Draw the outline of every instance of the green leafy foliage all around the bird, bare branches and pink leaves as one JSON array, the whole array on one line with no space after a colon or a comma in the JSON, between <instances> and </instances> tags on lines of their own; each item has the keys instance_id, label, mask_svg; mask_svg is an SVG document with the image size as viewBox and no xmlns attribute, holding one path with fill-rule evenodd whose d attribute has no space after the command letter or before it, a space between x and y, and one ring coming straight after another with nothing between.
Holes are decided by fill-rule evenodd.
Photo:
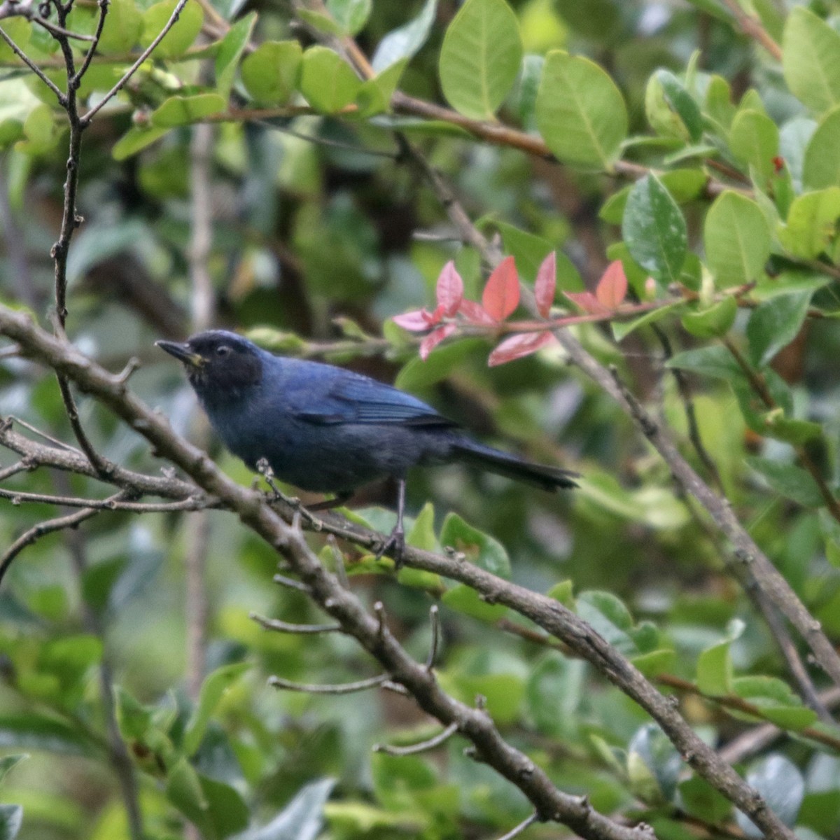
<instances>
[{"instance_id":1,"label":"green leafy foliage all around the bird, bare branches and pink leaves","mask_svg":"<svg viewBox=\"0 0 840 840\"><path fill-rule=\"evenodd\" d=\"M486 277L401 154L398 129L480 229L498 234L525 281L557 250L558 307L574 312L564 292L593 288L608 261L621 260L633 296L659 308L616 321L612 334L581 326L580 340L656 404L715 481L687 443L671 372L689 376L721 491L824 631L840 638L840 525L802 466L804 453L836 494L840 7L788 5L756 0L748 12L781 45L778 60L742 34L734 3L714 0L330 0L301 12L303 29L276 5L214 0L210 12L189 0L86 134L68 332L113 370L139 357L134 390L178 431L206 439L192 392L152 345L192 328L191 142L193 123L213 123L208 268L218 323L271 349L396 379L483 438L580 470L571 496L457 467L412 475L410 542L450 547L572 606L674 691L710 743L732 746L764 722L780 727L782 737L744 752L738 769L801 837L828 840L840 830L840 729L803 704L773 634L724 567L724 547L630 420L557 348L490 369L495 337L457 338L421 362L407 333L386 321L430 305L450 259L471 300ZM113 87L173 8L112 0L84 102ZM55 39L21 17L2 24L60 83ZM95 25L93 4L76 0L68 26L92 34ZM317 43L335 36L357 39L374 78L361 80ZM85 43L74 42L79 55ZM5 44L0 66L0 295L46 318L66 115ZM479 142L452 112L391 112L397 89L448 102L464 118L519 126L560 165L516 144ZM380 334L385 341L371 338ZM757 396L757 381L769 400ZM55 382L23 360L0 360L0 408L71 440ZM160 469L100 407L81 398L81 414L109 459ZM230 475L251 480L210 445ZM102 495L93 480L48 470L8 484ZM390 528L379 506L391 497L389 487L365 489L355 512ZM3 512L3 544L55 516L50 506L7 501ZM333 684L375 675L375 666L347 638L262 630L250 612L323 617L300 592L270 583L276 555L267 546L228 515L203 516L207 673L192 699L189 517L104 512L78 532L40 539L13 567L0 593L0 790L14 804L0 806L0 837L130 836L102 680L113 685L144 837L183 837L191 822L206 840L444 840L496 837L528 816L522 794L465 756L457 737L428 755L371 753L375 743L438 731L402 697L268 687L268 675ZM468 587L414 570L395 578L342 548L354 591L386 605L417 659L427 656L428 608L439 601L441 684L470 704L483 696L504 737L563 790L648 822L659 837L721 827L753 836L590 664ZM323 559L335 562L329 549ZM528 831L554 837L557 827Z\"/></svg>"}]
</instances>

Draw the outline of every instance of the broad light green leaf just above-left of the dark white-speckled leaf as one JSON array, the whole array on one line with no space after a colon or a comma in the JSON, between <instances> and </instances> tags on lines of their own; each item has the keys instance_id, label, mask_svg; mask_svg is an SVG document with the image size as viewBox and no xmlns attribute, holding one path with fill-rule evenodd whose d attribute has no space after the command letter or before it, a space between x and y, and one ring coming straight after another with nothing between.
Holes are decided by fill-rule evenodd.
<instances>
[{"instance_id":1,"label":"broad light green leaf just above-left of the dark white-speckled leaf","mask_svg":"<svg viewBox=\"0 0 840 840\"><path fill-rule=\"evenodd\" d=\"M558 160L611 170L627 137L627 107L601 67L552 50L537 92L537 126Z\"/></svg>"}]
</instances>

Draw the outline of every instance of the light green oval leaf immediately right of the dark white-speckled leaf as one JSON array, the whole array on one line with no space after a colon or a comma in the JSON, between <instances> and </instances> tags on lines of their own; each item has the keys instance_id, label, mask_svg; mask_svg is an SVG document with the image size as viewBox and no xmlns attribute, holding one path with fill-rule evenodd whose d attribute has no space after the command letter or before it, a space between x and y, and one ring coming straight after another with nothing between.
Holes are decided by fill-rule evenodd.
<instances>
[{"instance_id":1,"label":"light green oval leaf immediately right of the dark white-speckled leaf","mask_svg":"<svg viewBox=\"0 0 840 840\"><path fill-rule=\"evenodd\" d=\"M769 224L758 204L727 190L709 208L703 243L717 286L740 286L764 271L770 255Z\"/></svg>"}]
</instances>

